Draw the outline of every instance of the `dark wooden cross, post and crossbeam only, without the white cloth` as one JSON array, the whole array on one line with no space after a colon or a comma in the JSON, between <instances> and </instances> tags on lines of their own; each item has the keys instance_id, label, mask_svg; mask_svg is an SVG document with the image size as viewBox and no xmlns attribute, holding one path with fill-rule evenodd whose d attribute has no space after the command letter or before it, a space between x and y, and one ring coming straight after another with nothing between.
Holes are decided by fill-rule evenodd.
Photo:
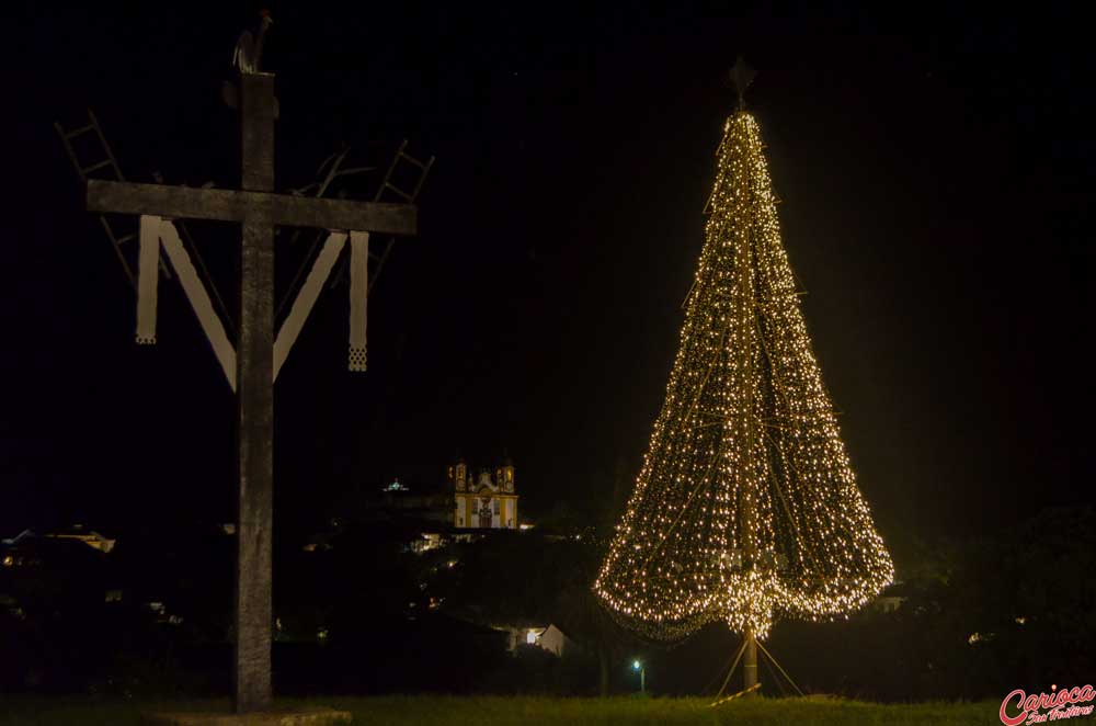
<instances>
[{"instance_id":1,"label":"dark wooden cross, post and crossbeam only, without the white cloth","mask_svg":"<svg viewBox=\"0 0 1096 726\"><path fill-rule=\"evenodd\" d=\"M274 229L278 225L289 225L346 230L352 236L369 231L413 235L416 212L410 204L322 200L273 193L274 76L241 73L240 97L243 170L241 190L93 180L88 182L88 209L142 215L142 230L147 226L147 219L161 216L237 222L243 227L239 337L235 351L235 372L227 370L226 373L235 373L229 378L230 383L235 383L238 397L240 491L236 530L238 556L233 674L236 710L246 713L267 708L272 699L274 376L276 367L284 360L282 351L275 363ZM333 234L332 238L335 236ZM365 239L368 239L367 236ZM341 249L341 242L345 241L345 235L339 241L340 246L334 248L335 254ZM142 240L142 253L145 251ZM171 250L168 252L170 256ZM152 264L141 265L151 270L152 285L157 274L157 257L158 252L152 258ZM364 263L366 257L362 257ZM329 271L333 256L329 254L327 260ZM180 265L175 266L178 269ZM142 276L146 274L142 272ZM187 295L191 296L191 291L187 291ZM195 311L198 311L193 296L191 302ZM310 305L309 302L308 306ZM152 309L155 311L155 303ZM198 313L201 318L202 314ZM299 331L299 322L302 320L298 321L295 330L290 330L292 338ZM209 330L206 332L209 333ZM281 337L279 334L279 339ZM212 336L210 342L216 349L218 344ZM221 363L228 367L226 358L221 356Z\"/></svg>"}]
</instances>

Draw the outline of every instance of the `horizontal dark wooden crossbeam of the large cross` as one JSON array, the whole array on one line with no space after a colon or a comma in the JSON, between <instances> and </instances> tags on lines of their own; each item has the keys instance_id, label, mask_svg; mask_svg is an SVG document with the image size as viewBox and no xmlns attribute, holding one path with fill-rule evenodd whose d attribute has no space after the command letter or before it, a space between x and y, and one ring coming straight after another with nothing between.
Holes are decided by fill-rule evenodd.
<instances>
[{"instance_id":1,"label":"horizontal dark wooden crossbeam of the large cross","mask_svg":"<svg viewBox=\"0 0 1096 726\"><path fill-rule=\"evenodd\" d=\"M272 192L194 189L88 180L88 209L162 217L243 222L263 213L274 226L368 230L411 236L418 231L411 204L327 200ZM269 216L266 216L269 215Z\"/></svg>"}]
</instances>

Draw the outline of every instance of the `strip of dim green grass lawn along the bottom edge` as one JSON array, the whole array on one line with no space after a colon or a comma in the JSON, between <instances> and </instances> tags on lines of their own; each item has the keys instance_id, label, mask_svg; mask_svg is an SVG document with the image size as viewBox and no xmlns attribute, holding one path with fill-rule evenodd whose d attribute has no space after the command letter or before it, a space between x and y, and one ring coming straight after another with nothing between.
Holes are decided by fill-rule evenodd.
<instances>
[{"instance_id":1,"label":"strip of dim green grass lawn along the bottom edge","mask_svg":"<svg viewBox=\"0 0 1096 726\"><path fill-rule=\"evenodd\" d=\"M837 699L738 700L715 708L703 699L547 699L504 696L320 697L308 702L279 699L278 706L310 703L351 711L355 724L391 726L617 726L667 724L721 726L762 724L1000 724L1000 703L922 703L880 705ZM110 701L83 697L42 699L0 695L0 726L103 724L136 726L146 711L227 710L228 701Z\"/></svg>"}]
</instances>

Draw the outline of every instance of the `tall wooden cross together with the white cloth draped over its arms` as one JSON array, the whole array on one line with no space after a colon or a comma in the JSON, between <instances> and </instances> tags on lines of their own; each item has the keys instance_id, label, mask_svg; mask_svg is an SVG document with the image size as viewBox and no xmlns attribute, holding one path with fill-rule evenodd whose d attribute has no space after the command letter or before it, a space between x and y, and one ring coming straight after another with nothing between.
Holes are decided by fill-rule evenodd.
<instances>
[{"instance_id":1,"label":"tall wooden cross together with the white cloth draped over its arms","mask_svg":"<svg viewBox=\"0 0 1096 726\"><path fill-rule=\"evenodd\" d=\"M206 334L237 393L239 430L239 518L237 523L236 710L269 707L271 691L271 565L273 503L274 378L304 325L324 280L350 239L350 367L365 366L365 303L370 232L408 236L416 231L412 204L353 202L273 193L274 76L241 72L239 88L242 189L192 189L123 181L88 180L88 209L140 215L138 338L155 339L159 250L162 246L186 290ZM402 149L401 149L402 150ZM418 190L415 190L418 191ZM240 316L237 344L213 325L195 299L205 291L186 269L172 218L218 219L243 228ZM330 234L277 340L274 338L274 229L317 227ZM189 288L187 288L189 287Z\"/></svg>"}]
</instances>

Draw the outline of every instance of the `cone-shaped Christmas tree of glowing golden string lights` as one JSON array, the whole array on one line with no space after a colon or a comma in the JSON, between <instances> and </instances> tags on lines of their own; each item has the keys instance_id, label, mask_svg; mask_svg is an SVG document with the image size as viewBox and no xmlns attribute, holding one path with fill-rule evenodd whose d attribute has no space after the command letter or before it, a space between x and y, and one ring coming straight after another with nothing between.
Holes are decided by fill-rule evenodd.
<instances>
[{"instance_id":1,"label":"cone-shaped Christmas tree of glowing golden string lights","mask_svg":"<svg viewBox=\"0 0 1096 726\"><path fill-rule=\"evenodd\" d=\"M757 122L728 118L666 400L594 585L625 625L831 619L894 574L856 486L780 241Z\"/></svg>"}]
</instances>

